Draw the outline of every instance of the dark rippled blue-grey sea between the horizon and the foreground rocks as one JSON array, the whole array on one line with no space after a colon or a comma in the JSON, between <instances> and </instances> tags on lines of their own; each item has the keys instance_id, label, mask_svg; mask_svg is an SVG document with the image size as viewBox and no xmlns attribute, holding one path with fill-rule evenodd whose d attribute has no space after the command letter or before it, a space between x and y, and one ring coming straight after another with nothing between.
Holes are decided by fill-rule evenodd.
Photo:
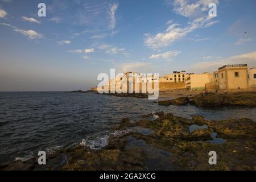
<instances>
[{"instance_id":1,"label":"dark rippled blue-grey sea between the horizon and the foreground rocks","mask_svg":"<svg viewBox=\"0 0 256 182\"><path fill-rule=\"evenodd\" d=\"M85 139L93 149L108 143L110 129L129 117L164 111L185 118L250 118L256 108L203 109L159 106L147 98L114 97L96 93L0 92L0 163L26 160L44 150L52 153Z\"/></svg>"}]
</instances>

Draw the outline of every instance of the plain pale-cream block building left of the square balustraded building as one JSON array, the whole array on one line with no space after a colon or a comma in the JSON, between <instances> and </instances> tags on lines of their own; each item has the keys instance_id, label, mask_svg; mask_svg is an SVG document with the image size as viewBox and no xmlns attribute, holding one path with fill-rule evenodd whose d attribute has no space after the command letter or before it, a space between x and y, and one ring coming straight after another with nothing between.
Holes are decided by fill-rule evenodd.
<instances>
[{"instance_id":1,"label":"plain pale-cream block building left of the square balustraded building","mask_svg":"<svg viewBox=\"0 0 256 182\"><path fill-rule=\"evenodd\" d=\"M205 84L210 82L210 73L189 74L185 80L187 90L205 90Z\"/></svg>"}]
</instances>

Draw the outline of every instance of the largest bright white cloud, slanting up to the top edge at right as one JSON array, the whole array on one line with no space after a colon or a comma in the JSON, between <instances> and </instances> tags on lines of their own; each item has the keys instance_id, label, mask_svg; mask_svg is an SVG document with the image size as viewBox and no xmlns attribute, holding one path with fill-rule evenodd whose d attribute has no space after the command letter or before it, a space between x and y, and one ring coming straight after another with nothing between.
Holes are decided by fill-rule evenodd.
<instances>
[{"instance_id":1,"label":"largest bright white cloud, slanting up to the top edge at right","mask_svg":"<svg viewBox=\"0 0 256 182\"><path fill-rule=\"evenodd\" d=\"M176 13L183 15L185 17L189 16L191 20L188 22L187 27L179 27L180 24L173 23L167 27L164 32L160 32L156 35L151 36L150 34L145 34L146 39L144 44L152 49L158 49L160 47L170 46L172 43L177 40L184 38L192 31L197 30L198 28L210 27L215 23L218 23L218 20L213 20L212 17L207 15L197 14L195 12L205 11L203 7L208 6L208 0L200 0L196 3L189 3L187 0L175 0L174 1L174 10ZM213 1L218 3L217 0ZM195 15L195 16L194 16Z\"/></svg>"}]
</instances>

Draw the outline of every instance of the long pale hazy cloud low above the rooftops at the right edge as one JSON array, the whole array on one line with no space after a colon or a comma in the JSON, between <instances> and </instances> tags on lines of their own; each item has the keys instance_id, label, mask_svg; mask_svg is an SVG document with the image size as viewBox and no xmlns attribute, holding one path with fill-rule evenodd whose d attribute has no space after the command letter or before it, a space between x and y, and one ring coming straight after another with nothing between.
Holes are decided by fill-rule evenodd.
<instances>
[{"instance_id":1,"label":"long pale hazy cloud low above the rooftops at the right edge","mask_svg":"<svg viewBox=\"0 0 256 182\"><path fill-rule=\"evenodd\" d=\"M216 71L226 64L248 64L249 67L256 67L256 51L243 55L231 56L227 59L196 63L192 65L192 69L197 72Z\"/></svg>"}]
</instances>

